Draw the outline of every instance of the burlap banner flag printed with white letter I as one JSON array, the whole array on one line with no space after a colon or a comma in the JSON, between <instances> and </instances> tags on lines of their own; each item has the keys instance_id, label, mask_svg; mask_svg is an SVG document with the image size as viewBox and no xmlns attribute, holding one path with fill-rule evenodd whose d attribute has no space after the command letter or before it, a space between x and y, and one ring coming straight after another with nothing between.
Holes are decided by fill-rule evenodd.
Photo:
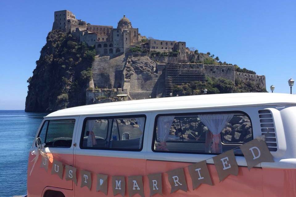
<instances>
[{"instance_id":1,"label":"burlap banner flag printed with white letter I","mask_svg":"<svg viewBox=\"0 0 296 197\"><path fill-rule=\"evenodd\" d=\"M188 166L189 174L192 179L192 189L195 190L200 184L213 185L207 162L201 161Z\"/></svg>"}]
</instances>

